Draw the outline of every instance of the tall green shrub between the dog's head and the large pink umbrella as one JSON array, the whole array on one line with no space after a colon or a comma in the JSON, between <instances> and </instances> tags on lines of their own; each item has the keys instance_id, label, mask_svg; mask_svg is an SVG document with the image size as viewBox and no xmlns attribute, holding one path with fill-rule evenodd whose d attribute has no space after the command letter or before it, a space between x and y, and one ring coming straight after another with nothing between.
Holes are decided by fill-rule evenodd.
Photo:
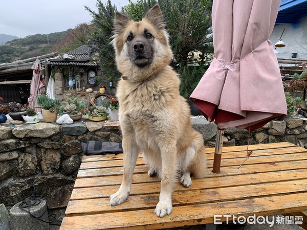
<instances>
[{"instance_id":1,"label":"tall green shrub between the dog's head and the large pink umbrella","mask_svg":"<svg viewBox=\"0 0 307 230\"><path fill-rule=\"evenodd\" d=\"M187 63L189 53L212 52L211 0L158 0L177 63Z\"/></svg>"}]
</instances>

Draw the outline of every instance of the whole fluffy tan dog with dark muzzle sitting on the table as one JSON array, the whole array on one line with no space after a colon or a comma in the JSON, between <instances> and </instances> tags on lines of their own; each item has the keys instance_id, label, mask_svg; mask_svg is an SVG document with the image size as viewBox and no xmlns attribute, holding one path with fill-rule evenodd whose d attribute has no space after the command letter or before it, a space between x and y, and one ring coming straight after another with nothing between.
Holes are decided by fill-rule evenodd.
<instances>
[{"instance_id":1,"label":"whole fluffy tan dog with dark muzzle sitting on the table","mask_svg":"<svg viewBox=\"0 0 307 230\"><path fill-rule=\"evenodd\" d=\"M161 179L155 213L163 217L172 212L177 174L185 187L191 185L191 173L196 178L205 175L203 137L192 129L188 103L179 93L180 78L169 66L172 51L160 7L151 8L139 22L116 12L113 45L123 78L117 97L124 175L119 190L111 196L111 205L127 199L141 151L148 174Z\"/></svg>"}]
</instances>

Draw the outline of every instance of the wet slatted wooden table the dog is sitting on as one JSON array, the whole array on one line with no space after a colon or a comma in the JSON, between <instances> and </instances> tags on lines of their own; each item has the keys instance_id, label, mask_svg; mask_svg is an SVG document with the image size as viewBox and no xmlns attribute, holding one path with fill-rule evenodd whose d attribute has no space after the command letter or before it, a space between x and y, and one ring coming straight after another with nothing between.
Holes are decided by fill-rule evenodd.
<instances>
[{"instance_id":1,"label":"wet slatted wooden table the dog is sitting on","mask_svg":"<svg viewBox=\"0 0 307 230\"><path fill-rule=\"evenodd\" d=\"M251 145L253 153L244 165L247 146L224 147L221 173L211 172L214 148L207 148L208 173L192 179L189 188L177 183L173 212L159 218L160 182L147 175L142 155L134 171L126 202L110 206L109 196L122 180L123 154L84 156L60 229L161 229L213 222L213 215L306 216L307 149L283 142ZM226 218L222 217L222 221Z\"/></svg>"}]
</instances>

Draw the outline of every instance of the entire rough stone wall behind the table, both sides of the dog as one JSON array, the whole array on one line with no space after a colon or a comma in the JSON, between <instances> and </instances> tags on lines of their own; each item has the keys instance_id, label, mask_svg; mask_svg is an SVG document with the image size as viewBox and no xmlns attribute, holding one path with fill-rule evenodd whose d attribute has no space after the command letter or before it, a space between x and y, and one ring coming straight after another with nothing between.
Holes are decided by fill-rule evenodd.
<instances>
[{"instance_id":1,"label":"entire rough stone wall behind the table, both sides of the dog","mask_svg":"<svg viewBox=\"0 0 307 230\"><path fill-rule=\"evenodd\" d=\"M214 147L216 125L205 119L192 119L203 134L206 147ZM228 128L224 146L291 142L307 147L307 120L293 117L271 121L251 131ZM249 137L250 136L250 137ZM118 122L81 120L71 125L37 123L0 124L0 203L10 208L37 193L48 199L50 209L67 205L83 156L80 141L121 142Z\"/></svg>"}]
</instances>

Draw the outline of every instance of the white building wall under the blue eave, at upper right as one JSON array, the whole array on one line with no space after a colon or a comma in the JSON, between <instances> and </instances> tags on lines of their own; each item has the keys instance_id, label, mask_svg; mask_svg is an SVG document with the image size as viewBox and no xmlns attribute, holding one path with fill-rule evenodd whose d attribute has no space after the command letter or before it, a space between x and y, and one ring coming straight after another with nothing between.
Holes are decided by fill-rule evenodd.
<instances>
[{"instance_id":1,"label":"white building wall under the blue eave, at upper right","mask_svg":"<svg viewBox=\"0 0 307 230\"><path fill-rule=\"evenodd\" d=\"M276 48L277 58L307 60L307 16L301 18L298 24L276 24L270 37L273 45L279 41L284 28L281 40L286 47ZM297 53L296 58L291 57L292 53Z\"/></svg>"}]
</instances>

